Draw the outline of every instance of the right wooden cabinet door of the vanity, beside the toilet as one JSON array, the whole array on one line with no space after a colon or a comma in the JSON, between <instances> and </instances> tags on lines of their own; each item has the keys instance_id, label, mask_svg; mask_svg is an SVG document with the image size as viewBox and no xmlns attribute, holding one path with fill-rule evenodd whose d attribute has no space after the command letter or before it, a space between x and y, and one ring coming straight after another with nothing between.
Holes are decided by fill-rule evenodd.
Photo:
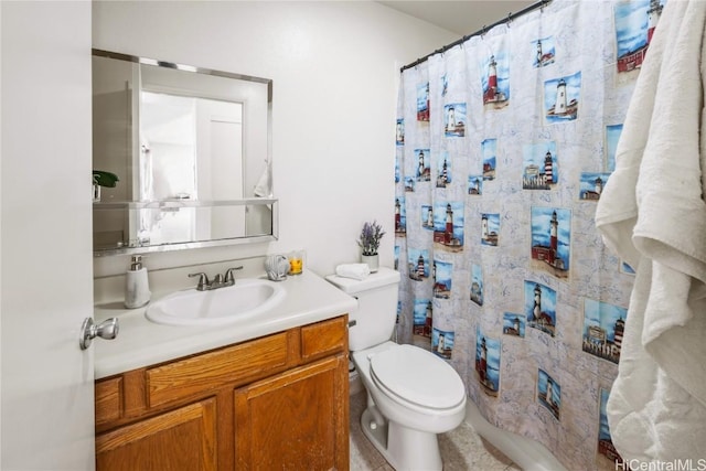
<instances>
[{"instance_id":1,"label":"right wooden cabinet door of the vanity, beside the toilet","mask_svg":"<svg viewBox=\"0 0 706 471\"><path fill-rule=\"evenodd\" d=\"M344 354L235 392L238 470L347 470Z\"/></svg>"}]
</instances>

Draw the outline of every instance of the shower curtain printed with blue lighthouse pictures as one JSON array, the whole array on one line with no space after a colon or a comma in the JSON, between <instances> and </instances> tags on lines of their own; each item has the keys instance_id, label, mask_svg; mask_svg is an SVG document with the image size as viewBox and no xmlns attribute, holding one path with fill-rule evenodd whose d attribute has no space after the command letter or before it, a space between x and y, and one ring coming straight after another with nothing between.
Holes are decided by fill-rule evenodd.
<instances>
[{"instance_id":1,"label":"shower curtain printed with blue lighthouse pictures","mask_svg":"<svg viewBox=\"0 0 706 471\"><path fill-rule=\"evenodd\" d=\"M569 470L621 460L605 408L634 272L593 216L663 3L554 0L400 78L398 338Z\"/></svg>"}]
</instances>

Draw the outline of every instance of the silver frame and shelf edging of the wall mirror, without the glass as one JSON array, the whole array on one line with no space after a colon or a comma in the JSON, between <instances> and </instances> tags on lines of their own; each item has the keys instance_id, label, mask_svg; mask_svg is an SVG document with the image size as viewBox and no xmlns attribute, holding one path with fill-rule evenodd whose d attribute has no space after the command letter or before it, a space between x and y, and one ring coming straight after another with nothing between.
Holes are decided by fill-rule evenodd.
<instances>
[{"instance_id":1,"label":"silver frame and shelf edging of the wall mirror, without the glass","mask_svg":"<svg viewBox=\"0 0 706 471\"><path fill-rule=\"evenodd\" d=\"M268 165L272 165L272 81L270 78L254 77L249 75L236 74L231 72L216 71L212 68L196 67L192 65L178 64L165 61L158 61L149 57L140 57L129 54L122 54L111 51L105 51L99 49L92 49L92 56L115 58L119 61L132 62L137 64L153 65L165 68L174 68L183 72L192 72L204 75L213 75L217 77L234 78L238 81L255 82L267 85L267 161ZM93 162L93 158L92 158ZM104 210L141 210L141 208L169 208L169 207L215 207L215 206L249 206L249 205L270 205L272 227L271 234L243 236L232 238L221 238L212 240L197 240L197 242L178 242L160 245L146 245L138 247L116 247L106 249L94 249L94 257L104 257L111 255L125 255L125 254L146 254L146 253L159 253L159 251L172 251L190 248L204 248L204 247L218 247L240 244L256 244L277 240L279 238L279 201L276 197L247 197L242 200L229 201L189 201L189 200L158 200L150 202L98 202L93 204L93 212Z\"/></svg>"}]
</instances>

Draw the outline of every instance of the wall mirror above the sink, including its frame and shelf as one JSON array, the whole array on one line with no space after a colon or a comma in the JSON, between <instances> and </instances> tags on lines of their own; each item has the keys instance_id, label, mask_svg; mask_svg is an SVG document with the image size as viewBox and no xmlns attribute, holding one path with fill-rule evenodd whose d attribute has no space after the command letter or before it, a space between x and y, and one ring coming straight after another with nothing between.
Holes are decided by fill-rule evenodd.
<instances>
[{"instance_id":1,"label":"wall mirror above the sink, including its frame and shelf","mask_svg":"<svg viewBox=\"0 0 706 471\"><path fill-rule=\"evenodd\" d=\"M277 238L272 82L93 50L94 255Z\"/></svg>"}]
</instances>

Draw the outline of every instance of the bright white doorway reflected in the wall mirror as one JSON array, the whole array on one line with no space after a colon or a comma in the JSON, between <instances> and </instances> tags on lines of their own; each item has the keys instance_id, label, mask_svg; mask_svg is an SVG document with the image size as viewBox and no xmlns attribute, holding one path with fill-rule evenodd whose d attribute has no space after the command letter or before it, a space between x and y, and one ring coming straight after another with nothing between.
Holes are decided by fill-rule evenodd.
<instances>
[{"instance_id":1,"label":"bright white doorway reflected in the wall mirror","mask_svg":"<svg viewBox=\"0 0 706 471\"><path fill-rule=\"evenodd\" d=\"M243 105L151 92L140 99L140 201L245 196Z\"/></svg>"}]
</instances>

